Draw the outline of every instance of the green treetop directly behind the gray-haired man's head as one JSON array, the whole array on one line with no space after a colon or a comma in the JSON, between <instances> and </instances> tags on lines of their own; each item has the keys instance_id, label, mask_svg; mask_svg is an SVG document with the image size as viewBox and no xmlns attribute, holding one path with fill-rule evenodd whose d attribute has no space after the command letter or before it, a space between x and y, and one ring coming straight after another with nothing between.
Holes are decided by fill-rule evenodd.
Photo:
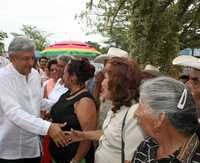
<instances>
[{"instance_id":1,"label":"green treetop directly behind the gray-haired man's head","mask_svg":"<svg viewBox=\"0 0 200 163\"><path fill-rule=\"evenodd\" d=\"M49 45L47 34L45 31L37 29L36 26L23 25L21 29L22 33L11 33L13 36L26 36L35 41L36 49L42 51Z\"/></svg>"}]
</instances>

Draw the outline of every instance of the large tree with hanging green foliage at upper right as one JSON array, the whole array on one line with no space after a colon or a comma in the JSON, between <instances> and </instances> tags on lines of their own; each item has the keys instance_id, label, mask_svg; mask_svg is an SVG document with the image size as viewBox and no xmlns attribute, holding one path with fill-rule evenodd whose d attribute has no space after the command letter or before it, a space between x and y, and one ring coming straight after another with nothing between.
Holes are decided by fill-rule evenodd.
<instances>
[{"instance_id":1,"label":"large tree with hanging green foliage at upper right","mask_svg":"<svg viewBox=\"0 0 200 163\"><path fill-rule=\"evenodd\" d=\"M81 18L109 44L169 72L180 49L200 47L199 15L199 0L99 0Z\"/></svg>"}]
</instances>

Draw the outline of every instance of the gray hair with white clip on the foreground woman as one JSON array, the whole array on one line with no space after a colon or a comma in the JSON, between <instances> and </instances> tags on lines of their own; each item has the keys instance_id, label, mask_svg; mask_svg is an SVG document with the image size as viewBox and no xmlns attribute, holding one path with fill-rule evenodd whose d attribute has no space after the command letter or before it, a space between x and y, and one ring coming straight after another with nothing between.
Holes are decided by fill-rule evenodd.
<instances>
[{"instance_id":1,"label":"gray hair with white clip on the foreground woman","mask_svg":"<svg viewBox=\"0 0 200 163\"><path fill-rule=\"evenodd\" d=\"M185 103L179 107L183 92L186 92ZM173 78L147 80L140 87L140 98L155 114L166 113L172 126L181 133L190 135L199 127L196 104L190 90Z\"/></svg>"}]
</instances>

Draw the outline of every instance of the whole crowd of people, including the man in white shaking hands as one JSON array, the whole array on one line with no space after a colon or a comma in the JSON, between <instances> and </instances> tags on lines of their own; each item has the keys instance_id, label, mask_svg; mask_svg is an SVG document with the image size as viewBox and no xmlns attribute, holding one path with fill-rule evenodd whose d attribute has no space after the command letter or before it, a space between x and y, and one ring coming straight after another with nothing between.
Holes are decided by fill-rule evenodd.
<instances>
[{"instance_id":1,"label":"whole crowd of people, including the man in white shaking hands","mask_svg":"<svg viewBox=\"0 0 200 163\"><path fill-rule=\"evenodd\" d=\"M111 47L94 61L35 60L16 37L0 58L0 163L200 162L200 62L175 79ZM2 62L1 62L2 61Z\"/></svg>"}]
</instances>

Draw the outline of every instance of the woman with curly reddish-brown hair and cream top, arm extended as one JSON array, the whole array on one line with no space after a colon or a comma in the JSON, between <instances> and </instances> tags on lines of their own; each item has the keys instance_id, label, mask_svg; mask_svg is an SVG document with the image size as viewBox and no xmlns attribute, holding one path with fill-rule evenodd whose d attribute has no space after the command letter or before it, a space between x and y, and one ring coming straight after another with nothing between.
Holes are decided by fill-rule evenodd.
<instances>
[{"instance_id":1,"label":"woman with curly reddish-brown hair and cream top, arm extended","mask_svg":"<svg viewBox=\"0 0 200 163\"><path fill-rule=\"evenodd\" d=\"M130 108L138 99L140 71L134 61L113 57L104 68L104 76L101 96L112 102L112 108L108 111L102 130L72 131L69 140L99 140L95 163L119 163L122 160L128 163L143 140L136 120L133 122L136 106Z\"/></svg>"}]
</instances>

